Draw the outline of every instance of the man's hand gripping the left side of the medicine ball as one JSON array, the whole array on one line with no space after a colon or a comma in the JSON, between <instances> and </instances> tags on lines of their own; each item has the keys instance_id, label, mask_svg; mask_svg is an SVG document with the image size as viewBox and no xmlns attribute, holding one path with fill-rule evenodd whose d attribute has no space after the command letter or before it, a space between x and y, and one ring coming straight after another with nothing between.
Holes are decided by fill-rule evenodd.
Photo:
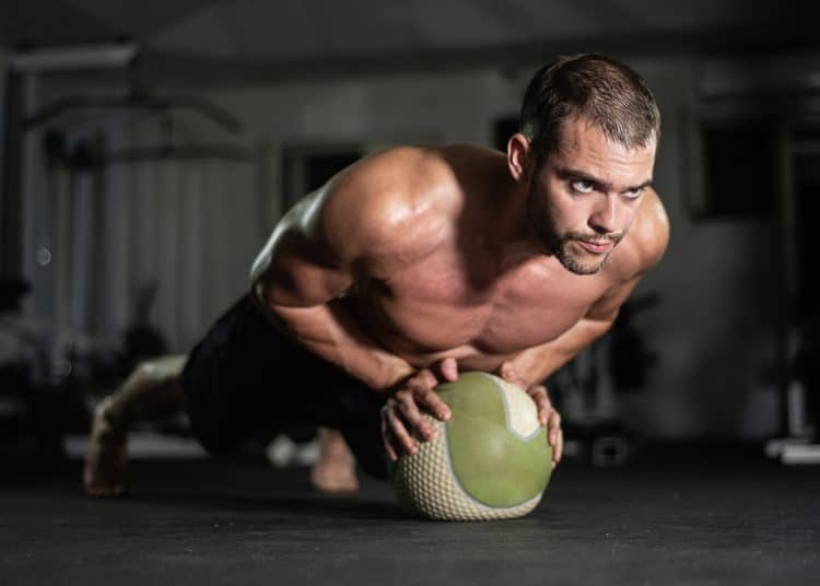
<instances>
[{"instance_id":1,"label":"man's hand gripping the left side of the medicine ball","mask_svg":"<svg viewBox=\"0 0 820 586\"><path fill-rule=\"evenodd\" d=\"M382 408L382 435L391 461L396 461L399 454L415 454L419 441L435 437L435 430L424 420L422 412L426 411L441 421L448 420L449 408L434 389L441 383L457 378L456 360L443 359L396 385Z\"/></svg>"}]
</instances>

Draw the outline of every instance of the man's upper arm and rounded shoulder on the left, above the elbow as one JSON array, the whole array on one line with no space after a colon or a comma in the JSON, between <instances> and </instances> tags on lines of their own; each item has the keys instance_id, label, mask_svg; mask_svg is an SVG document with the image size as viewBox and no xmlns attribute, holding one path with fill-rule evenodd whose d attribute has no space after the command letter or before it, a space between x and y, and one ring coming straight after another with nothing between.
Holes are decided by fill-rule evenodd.
<instances>
[{"instance_id":1,"label":"man's upper arm and rounded shoulder on the left, above the elbow","mask_svg":"<svg viewBox=\"0 0 820 586\"><path fill-rule=\"evenodd\" d=\"M385 179L383 167L351 167L286 214L253 270L261 274L254 286L263 284L268 304L326 303L354 279L387 279L420 256L422 222L406 194Z\"/></svg>"}]
</instances>

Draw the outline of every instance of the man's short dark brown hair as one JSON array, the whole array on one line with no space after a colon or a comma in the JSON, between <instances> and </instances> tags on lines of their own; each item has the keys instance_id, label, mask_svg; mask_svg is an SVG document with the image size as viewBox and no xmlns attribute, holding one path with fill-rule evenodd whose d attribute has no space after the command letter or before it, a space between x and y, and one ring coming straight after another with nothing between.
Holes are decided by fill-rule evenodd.
<instances>
[{"instance_id":1,"label":"man's short dark brown hair","mask_svg":"<svg viewBox=\"0 0 820 586\"><path fill-rule=\"evenodd\" d=\"M626 149L660 139L660 112L646 82L599 54L560 57L538 70L524 94L518 131L546 160L572 119L586 120Z\"/></svg>"}]
</instances>

